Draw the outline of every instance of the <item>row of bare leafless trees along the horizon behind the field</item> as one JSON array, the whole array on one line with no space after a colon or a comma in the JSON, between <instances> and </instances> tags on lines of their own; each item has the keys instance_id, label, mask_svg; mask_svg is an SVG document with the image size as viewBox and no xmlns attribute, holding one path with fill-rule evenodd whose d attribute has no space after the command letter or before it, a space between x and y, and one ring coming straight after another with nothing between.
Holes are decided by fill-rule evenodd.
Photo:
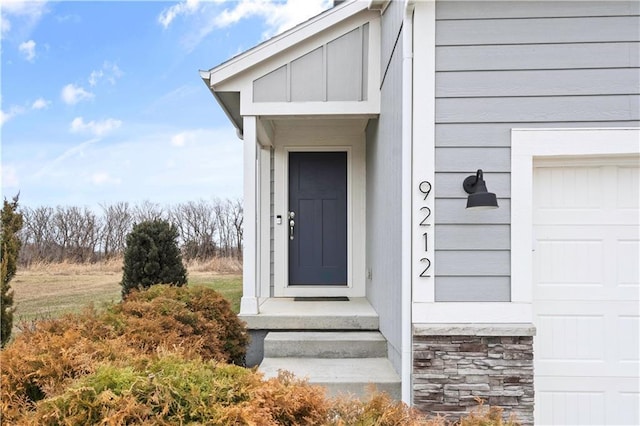
<instances>
[{"instance_id":1,"label":"row of bare leafless trees along the horizon behind the field","mask_svg":"<svg viewBox=\"0 0 640 426\"><path fill-rule=\"evenodd\" d=\"M93 263L122 256L134 224L163 219L176 226L186 261L242 260L242 201L213 199L162 206L150 201L88 207L22 207L19 263Z\"/></svg>"}]
</instances>

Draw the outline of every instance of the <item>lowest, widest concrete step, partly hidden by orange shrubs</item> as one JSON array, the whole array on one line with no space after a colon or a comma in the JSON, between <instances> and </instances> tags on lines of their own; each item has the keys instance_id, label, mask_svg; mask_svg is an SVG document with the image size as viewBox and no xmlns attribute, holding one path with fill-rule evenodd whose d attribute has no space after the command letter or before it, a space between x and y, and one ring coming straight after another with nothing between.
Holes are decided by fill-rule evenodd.
<instances>
[{"instance_id":1,"label":"lowest, widest concrete step, partly hidden by orange shrubs","mask_svg":"<svg viewBox=\"0 0 640 426\"><path fill-rule=\"evenodd\" d=\"M369 386L401 398L400 377L387 358L265 358L260 364L265 377L277 377L289 371L309 383L321 385L330 396L352 394L366 397Z\"/></svg>"}]
</instances>

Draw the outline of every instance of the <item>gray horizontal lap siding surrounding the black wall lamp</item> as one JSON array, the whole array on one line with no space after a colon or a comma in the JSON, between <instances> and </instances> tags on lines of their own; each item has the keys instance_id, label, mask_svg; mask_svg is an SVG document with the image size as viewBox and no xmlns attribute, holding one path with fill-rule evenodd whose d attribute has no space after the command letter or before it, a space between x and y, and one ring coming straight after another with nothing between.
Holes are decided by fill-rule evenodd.
<instances>
[{"instance_id":1,"label":"gray horizontal lap siding surrounding the black wall lamp","mask_svg":"<svg viewBox=\"0 0 640 426\"><path fill-rule=\"evenodd\" d=\"M638 126L638 28L636 1L436 3L436 301L510 300L510 131ZM499 209L465 210L477 169Z\"/></svg>"}]
</instances>

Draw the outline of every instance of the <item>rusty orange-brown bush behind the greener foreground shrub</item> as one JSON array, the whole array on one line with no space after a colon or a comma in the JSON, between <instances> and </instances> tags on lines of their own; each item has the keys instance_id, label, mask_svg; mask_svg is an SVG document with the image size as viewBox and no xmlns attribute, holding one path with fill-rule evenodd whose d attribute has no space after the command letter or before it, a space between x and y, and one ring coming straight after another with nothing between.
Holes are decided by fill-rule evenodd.
<instances>
[{"instance_id":1,"label":"rusty orange-brown bush behind the greener foreground shrub","mask_svg":"<svg viewBox=\"0 0 640 426\"><path fill-rule=\"evenodd\" d=\"M187 359L244 360L248 334L217 292L154 286L133 292L103 313L40 321L0 353L2 417L12 419L54 397L103 363L145 363L159 351ZM146 361L145 361L146 360Z\"/></svg>"}]
</instances>

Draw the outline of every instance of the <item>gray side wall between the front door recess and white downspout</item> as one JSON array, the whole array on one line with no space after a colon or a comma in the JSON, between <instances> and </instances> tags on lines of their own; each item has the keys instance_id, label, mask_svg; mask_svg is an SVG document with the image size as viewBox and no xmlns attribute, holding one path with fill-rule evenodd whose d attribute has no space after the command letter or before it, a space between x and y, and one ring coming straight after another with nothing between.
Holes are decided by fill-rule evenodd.
<instances>
[{"instance_id":1,"label":"gray side wall between the front door recess and white downspout","mask_svg":"<svg viewBox=\"0 0 640 426\"><path fill-rule=\"evenodd\" d=\"M398 10L402 12L400 2L391 3L382 20L381 90L385 101L380 118L371 120L366 130L366 268L367 298L380 317L380 331L389 342L389 359L400 371L402 42L398 24L402 14Z\"/></svg>"}]
</instances>

